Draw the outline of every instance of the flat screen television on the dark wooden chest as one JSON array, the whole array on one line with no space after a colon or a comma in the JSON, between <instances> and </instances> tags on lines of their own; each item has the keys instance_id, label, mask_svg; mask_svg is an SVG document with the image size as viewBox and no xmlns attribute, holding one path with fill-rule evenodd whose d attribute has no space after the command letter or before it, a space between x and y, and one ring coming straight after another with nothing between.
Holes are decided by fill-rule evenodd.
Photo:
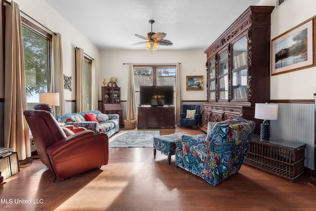
<instances>
[{"instance_id":1,"label":"flat screen television on the dark wooden chest","mask_svg":"<svg viewBox=\"0 0 316 211\"><path fill-rule=\"evenodd\" d=\"M173 105L173 85L141 85L139 87L139 104Z\"/></svg>"}]
</instances>

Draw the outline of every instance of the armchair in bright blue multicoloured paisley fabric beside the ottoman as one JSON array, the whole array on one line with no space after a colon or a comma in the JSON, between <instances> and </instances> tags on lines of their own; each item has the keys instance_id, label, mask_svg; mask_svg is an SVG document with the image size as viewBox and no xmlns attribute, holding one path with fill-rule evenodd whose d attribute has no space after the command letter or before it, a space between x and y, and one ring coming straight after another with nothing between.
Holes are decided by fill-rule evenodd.
<instances>
[{"instance_id":1,"label":"armchair in bright blue multicoloured paisley fabric beside the ottoman","mask_svg":"<svg viewBox=\"0 0 316 211\"><path fill-rule=\"evenodd\" d=\"M182 135L176 142L176 166L217 185L239 171L255 125L236 118L215 124L206 139Z\"/></svg>"}]
</instances>

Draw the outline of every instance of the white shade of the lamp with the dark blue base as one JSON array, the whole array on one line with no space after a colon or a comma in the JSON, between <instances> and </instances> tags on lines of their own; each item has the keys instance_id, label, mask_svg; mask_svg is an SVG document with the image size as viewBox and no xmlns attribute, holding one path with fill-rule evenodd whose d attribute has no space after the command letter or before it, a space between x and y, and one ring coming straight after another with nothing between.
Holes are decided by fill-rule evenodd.
<instances>
[{"instance_id":1,"label":"white shade of the lamp with the dark blue base","mask_svg":"<svg viewBox=\"0 0 316 211\"><path fill-rule=\"evenodd\" d=\"M256 103L255 118L260 120L277 120L278 104Z\"/></svg>"}]
</instances>

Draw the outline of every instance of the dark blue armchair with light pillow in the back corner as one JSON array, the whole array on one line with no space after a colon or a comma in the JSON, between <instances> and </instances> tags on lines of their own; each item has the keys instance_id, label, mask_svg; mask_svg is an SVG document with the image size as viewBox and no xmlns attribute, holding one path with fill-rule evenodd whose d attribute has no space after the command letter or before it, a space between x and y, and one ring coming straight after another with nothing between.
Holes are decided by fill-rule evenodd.
<instances>
[{"instance_id":1,"label":"dark blue armchair with light pillow in the back corner","mask_svg":"<svg viewBox=\"0 0 316 211\"><path fill-rule=\"evenodd\" d=\"M199 124L199 107L200 105L182 105L182 113L180 114L180 127L192 127ZM193 115L188 115L187 110L194 111Z\"/></svg>"}]
</instances>

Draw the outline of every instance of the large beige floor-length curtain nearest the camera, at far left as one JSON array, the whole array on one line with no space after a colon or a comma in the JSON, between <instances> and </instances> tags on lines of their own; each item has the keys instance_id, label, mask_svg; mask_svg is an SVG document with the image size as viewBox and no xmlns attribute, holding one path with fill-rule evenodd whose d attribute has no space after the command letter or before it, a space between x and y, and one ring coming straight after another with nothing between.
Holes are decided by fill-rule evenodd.
<instances>
[{"instance_id":1,"label":"large beige floor-length curtain nearest the camera, at far left","mask_svg":"<svg viewBox=\"0 0 316 211\"><path fill-rule=\"evenodd\" d=\"M4 147L18 153L19 160L31 157L27 110L24 53L19 5L5 7L4 40Z\"/></svg>"}]
</instances>

